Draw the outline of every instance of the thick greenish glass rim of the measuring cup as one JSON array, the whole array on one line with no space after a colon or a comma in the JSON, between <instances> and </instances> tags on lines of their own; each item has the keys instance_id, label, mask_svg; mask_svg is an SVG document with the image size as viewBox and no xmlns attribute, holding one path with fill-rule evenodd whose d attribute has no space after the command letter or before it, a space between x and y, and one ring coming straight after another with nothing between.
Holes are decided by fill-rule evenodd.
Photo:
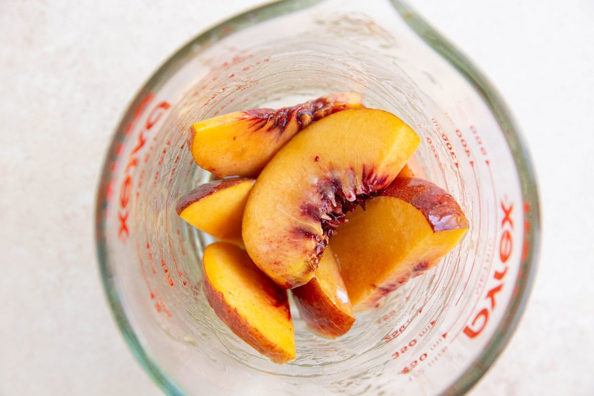
<instances>
[{"instance_id":1,"label":"thick greenish glass rim of the measuring cup","mask_svg":"<svg viewBox=\"0 0 594 396\"><path fill-rule=\"evenodd\" d=\"M143 99L151 91L159 88L160 84L168 77L178 71L185 64L188 58L194 55L197 48L203 50L211 43L220 41L233 33L247 27L280 17L290 12L298 11L320 4L326 0L280 0L261 7L253 8L242 14L231 17L217 26L198 34L189 40L184 46L176 50L163 64L151 75L149 80L138 90L134 99L129 103L127 110L116 127L112 141L110 142L105 161L100 175L99 185L96 194L95 210L95 234L97 246L97 258L99 270L102 277L103 289L105 290L113 318L124 335L132 354L149 374L152 381L168 395L183 396L185 393L170 379L166 370L142 346L137 333L133 330L127 315L119 299L119 292L113 281L113 273L110 269L106 256L105 246L108 244L105 235L105 208L107 198L103 192L108 188L112 164L116 160L116 151L119 144L125 140L125 127L134 116L135 109L142 103ZM504 132L505 140L513 154L513 159L520 176L523 201L529 205L530 211L526 214L530 221L530 229L526 232L523 248L527 249L525 259L520 263L520 275L516 278L514 294L516 297L510 300L503 318L498 324L494 335L478 357L469 365L459 378L448 387L444 394L461 395L472 388L494 363L511 339L517 324L526 307L530 289L535 277L536 264L541 243L540 209L538 188L535 171L530 160L529 151L520 134L516 121L505 104L501 95L494 85L476 68L460 50L453 46L438 31L427 23L419 14L405 2L400 0L388 0L396 11L403 18L403 21L422 39L424 42L439 53L451 66L453 66L482 97L485 104L495 116L498 124Z\"/></svg>"}]
</instances>

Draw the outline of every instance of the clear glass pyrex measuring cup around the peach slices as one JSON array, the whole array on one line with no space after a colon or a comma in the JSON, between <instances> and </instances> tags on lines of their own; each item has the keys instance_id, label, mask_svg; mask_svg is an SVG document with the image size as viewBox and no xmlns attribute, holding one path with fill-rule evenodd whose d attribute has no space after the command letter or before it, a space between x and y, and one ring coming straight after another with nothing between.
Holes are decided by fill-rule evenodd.
<instances>
[{"instance_id":1,"label":"clear glass pyrex measuring cup around the peach slices","mask_svg":"<svg viewBox=\"0 0 594 396\"><path fill-rule=\"evenodd\" d=\"M280 366L235 337L201 290L210 239L175 214L211 176L188 126L252 107L361 93L422 138L415 173L470 221L445 263L326 340L293 312L298 358ZM529 290L538 198L497 93L400 2L284 1L192 40L141 89L108 152L97 200L106 292L133 353L169 394L460 394L503 348Z\"/></svg>"}]
</instances>

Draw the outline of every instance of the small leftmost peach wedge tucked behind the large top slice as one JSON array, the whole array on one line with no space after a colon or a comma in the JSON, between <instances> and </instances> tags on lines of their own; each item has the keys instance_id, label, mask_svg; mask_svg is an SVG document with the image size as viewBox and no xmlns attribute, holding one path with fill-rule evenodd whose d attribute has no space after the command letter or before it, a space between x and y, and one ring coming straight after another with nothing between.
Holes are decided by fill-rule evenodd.
<instances>
[{"instance_id":1,"label":"small leftmost peach wedge tucked behind the large top slice","mask_svg":"<svg viewBox=\"0 0 594 396\"><path fill-rule=\"evenodd\" d=\"M205 183L180 198L175 210L197 229L242 245L241 219L254 182L230 178Z\"/></svg>"}]
</instances>

